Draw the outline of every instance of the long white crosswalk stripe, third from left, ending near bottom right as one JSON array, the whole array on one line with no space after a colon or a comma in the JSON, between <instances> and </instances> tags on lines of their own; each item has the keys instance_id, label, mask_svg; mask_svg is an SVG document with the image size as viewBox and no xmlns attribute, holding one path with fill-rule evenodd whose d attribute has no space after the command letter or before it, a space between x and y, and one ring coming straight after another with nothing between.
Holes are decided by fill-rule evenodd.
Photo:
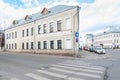
<instances>
[{"instance_id":1,"label":"long white crosswalk stripe, third from left, ending near bottom right","mask_svg":"<svg viewBox=\"0 0 120 80\"><path fill-rule=\"evenodd\" d=\"M71 74L76 74L76 75L87 76L87 77L101 78L101 76L95 75L95 74L75 72L75 71L70 71L70 70L66 70L66 69L59 69L59 68L50 68L50 69L60 71L60 72L65 72L65 73L71 73Z\"/></svg>"}]
</instances>

